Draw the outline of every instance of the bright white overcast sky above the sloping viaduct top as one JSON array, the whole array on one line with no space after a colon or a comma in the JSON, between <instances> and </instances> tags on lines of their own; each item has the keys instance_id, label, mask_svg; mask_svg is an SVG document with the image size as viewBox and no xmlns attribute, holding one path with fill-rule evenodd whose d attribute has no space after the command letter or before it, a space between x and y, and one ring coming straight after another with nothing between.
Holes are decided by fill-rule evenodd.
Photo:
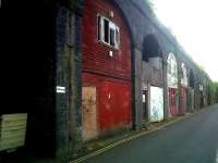
<instances>
[{"instance_id":1,"label":"bright white overcast sky above the sloping viaduct top","mask_svg":"<svg viewBox=\"0 0 218 163\"><path fill-rule=\"evenodd\" d=\"M218 82L218 0L154 0L158 18Z\"/></svg>"}]
</instances>

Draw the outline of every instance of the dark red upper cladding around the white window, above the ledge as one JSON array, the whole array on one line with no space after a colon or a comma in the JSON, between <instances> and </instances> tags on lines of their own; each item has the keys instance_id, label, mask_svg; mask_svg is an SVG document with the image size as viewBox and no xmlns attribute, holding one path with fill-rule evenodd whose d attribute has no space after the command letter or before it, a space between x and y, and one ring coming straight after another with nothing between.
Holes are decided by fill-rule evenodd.
<instances>
[{"instance_id":1,"label":"dark red upper cladding around the white window, above the ledge","mask_svg":"<svg viewBox=\"0 0 218 163\"><path fill-rule=\"evenodd\" d=\"M98 41L97 15L109 17L113 11L114 17L110 20L120 27L119 50ZM128 28L121 13L108 1L87 0L83 17L83 70L107 74L114 77L131 78L131 43ZM108 57L112 50L113 57Z\"/></svg>"}]
</instances>

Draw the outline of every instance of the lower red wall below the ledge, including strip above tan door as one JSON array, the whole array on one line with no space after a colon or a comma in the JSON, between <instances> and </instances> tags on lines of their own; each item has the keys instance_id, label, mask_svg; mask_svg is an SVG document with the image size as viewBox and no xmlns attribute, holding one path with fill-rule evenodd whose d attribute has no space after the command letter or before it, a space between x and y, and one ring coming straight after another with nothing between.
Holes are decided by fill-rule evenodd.
<instances>
[{"instance_id":1,"label":"lower red wall below the ledge, including strip above tan door","mask_svg":"<svg viewBox=\"0 0 218 163\"><path fill-rule=\"evenodd\" d=\"M131 124L131 83L83 73L83 85L96 87L97 124L105 133Z\"/></svg>"}]
</instances>

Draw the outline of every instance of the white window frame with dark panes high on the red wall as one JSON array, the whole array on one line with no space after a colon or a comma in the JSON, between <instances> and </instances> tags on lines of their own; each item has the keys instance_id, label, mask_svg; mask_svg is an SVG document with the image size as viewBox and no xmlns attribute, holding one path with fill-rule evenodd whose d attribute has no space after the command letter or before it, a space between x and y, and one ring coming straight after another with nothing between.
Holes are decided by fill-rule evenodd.
<instances>
[{"instance_id":1,"label":"white window frame with dark panes high on the red wall","mask_svg":"<svg viewBox=\"0 0 218 163\"><path fill-rule=\"evenodd\" d=\"M119 49L120 47L120 28L113 23L111 22L109 18L98 14L97 15L98 18L100 18L98 22L98 40L100 42L106 43L107 46L110 46L112 48ZM105 26L104 26L104 21L108 21L109 23L109 28L108 28L108 42L105 41ZM110 40L110 30L114 30L114 46L111 45L111 40Z\"/></svg>"}]
</instances>

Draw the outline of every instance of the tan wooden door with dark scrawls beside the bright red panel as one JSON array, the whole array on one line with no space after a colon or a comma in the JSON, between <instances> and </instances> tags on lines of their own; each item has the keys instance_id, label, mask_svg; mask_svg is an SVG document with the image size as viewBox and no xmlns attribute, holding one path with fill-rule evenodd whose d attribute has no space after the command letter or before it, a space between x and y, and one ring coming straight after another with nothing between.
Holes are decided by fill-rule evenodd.
<instances>
[{"instance_id":1,"label":"tan wooden door with dark scrawls beside the bright red panel","mask_svg":"<svg viewBox=\"0 0 218 163\"><path fill-rule=\"evenodd\" d=\"M82 90L83 100L83 140L90 140L97 137L97 110L96 110L96 87L87 86Z\"/></svg>"}]
</instances>

